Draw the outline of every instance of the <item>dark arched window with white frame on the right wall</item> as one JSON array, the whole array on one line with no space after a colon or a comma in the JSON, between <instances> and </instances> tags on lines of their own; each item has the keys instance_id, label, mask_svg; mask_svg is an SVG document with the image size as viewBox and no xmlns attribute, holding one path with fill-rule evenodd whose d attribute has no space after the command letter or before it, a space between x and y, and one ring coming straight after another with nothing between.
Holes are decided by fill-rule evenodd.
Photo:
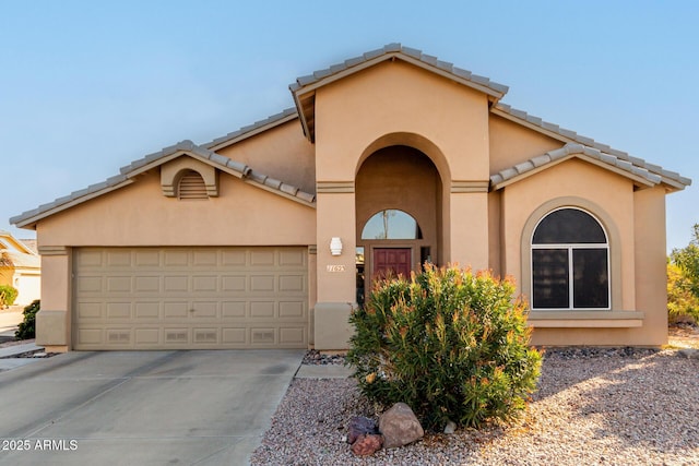
<instances>
[{"instance_id":1,"label":"dark arched window with white frame on the right wall","mask_svg":"<svg viewBox=\"0 0 699 466\"><path fill-rule=\"evenodd\" d=\"M609 242L589 213L565 207L532 236L532 309L609 309Z\"/></svg>"}]
</instances>

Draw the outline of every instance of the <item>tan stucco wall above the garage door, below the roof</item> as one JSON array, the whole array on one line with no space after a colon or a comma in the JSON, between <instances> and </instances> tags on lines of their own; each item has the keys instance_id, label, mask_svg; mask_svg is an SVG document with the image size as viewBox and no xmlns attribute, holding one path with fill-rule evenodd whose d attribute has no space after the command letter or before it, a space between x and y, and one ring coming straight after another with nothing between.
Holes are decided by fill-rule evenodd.
<instances>
[{"instance_id":1,"label":"tan stucco wall above the garage door, below the roof","mask_svg":"<svg viewBox=\"0 0 699 466\"><path fill-rule=\"evenodd\" d=\"M312 207L220 175L220 195L163 195L157 170L39 222L46 246L296 246L316 242Z\"/></svg>"}]
</instances>

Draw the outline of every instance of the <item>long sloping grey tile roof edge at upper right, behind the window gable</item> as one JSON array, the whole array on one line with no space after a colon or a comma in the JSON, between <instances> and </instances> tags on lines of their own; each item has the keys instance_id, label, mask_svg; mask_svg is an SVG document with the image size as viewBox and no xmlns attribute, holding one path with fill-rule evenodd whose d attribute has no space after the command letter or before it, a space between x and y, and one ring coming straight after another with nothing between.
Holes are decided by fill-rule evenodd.
<instances>
[{"instance_id":1,"label":"long sloping grey tile roof edge at upper right, behind the window gable","mask_svg":"<svg viewBox=\"0 0 699 466\"><path fill-rule=\"evenodd\" d=\"M510 121L513 121L519 124L523 124L535 131L542 132L561 142L565 142L567 143L566 144L567 146L570 144L574 145L576 143L579 146L584 146L587 151L584 154L588 156L595 157L594 154L600 153L604 155L605 160L608 160L613 165L617 165L621 167L621 166L626 166L625 163L627 163L629 165L629 171L636 170L639 174L649 172L652 175L656 175L657 177L660 177L660 181L653 181L654 183L662 181L675 189L685 189L686 187L691 184L691 180L689 178L683 177L675 171L666 170L659 165L650 164L643 160L642 158L633 157L624 151L618 151L616 148L611 147L607 144L596 142L592 138L583 136L581 134L578 134L574 131L560 128L558 124L549 123L547 121L542 120L538 117L529 115L526 111L512 108L509 105L498 103L495 107L490 109L490 111L495 115L499 115L503 118L507 118ZM613 157L614 162L612 162L612 159L608 158L608 156ZM595 157L595 158L599 158L599 157ZM497 176L498 175L495 175L495 177ZM497 183L494 182L494 184L497 184Z\"/></svg>"}]
</instances>

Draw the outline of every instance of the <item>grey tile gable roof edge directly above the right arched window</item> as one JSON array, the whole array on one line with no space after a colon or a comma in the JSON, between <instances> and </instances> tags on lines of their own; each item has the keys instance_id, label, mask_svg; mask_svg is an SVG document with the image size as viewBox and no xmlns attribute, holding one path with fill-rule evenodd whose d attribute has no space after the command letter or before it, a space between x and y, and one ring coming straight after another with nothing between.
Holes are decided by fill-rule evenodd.
<instances>
[{"instance_id":1,"label":"grey tile gable roof edge directly above the right arched window","mask_svg":"<svg viewBox=\"0 0 699 466\"><path fill-rule=\"evenodd\" d=\"M664 182L661 175L655 174L645 167L636 165L635 163L621 158L618 155L613 155L600 151L596 147L590 147L583 144L568 143L560 148L548 151L545 154L532 157L529 160L517 164L513 167L506 168L505 170L490 176L490 187L494 190L498 190L572 157L581 158L603 168L618 172L641 186L652 187ZM684 180L687 179L685 178ZM687 181L691 182L691 180Z\"/></svg>"}]
</instances>

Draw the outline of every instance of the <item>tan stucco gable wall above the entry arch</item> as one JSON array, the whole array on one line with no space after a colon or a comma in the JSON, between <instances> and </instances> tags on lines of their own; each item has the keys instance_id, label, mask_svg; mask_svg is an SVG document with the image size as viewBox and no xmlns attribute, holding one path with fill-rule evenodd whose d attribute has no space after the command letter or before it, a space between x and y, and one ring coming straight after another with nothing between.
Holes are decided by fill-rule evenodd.
<instances>
[{"instance_id":1,"label":"tan stucco gable wall above the entry arch","mask_svg":"<svg viewBox=\"0 0 699 466\"><path fill-rule=\"evenodd\" d=\"M489 175L486 96L394 61L318 89L317 179L353 179L364 150L391 133L431 141L447 157L453 179Z\"/></svg>"}]
</instances>

